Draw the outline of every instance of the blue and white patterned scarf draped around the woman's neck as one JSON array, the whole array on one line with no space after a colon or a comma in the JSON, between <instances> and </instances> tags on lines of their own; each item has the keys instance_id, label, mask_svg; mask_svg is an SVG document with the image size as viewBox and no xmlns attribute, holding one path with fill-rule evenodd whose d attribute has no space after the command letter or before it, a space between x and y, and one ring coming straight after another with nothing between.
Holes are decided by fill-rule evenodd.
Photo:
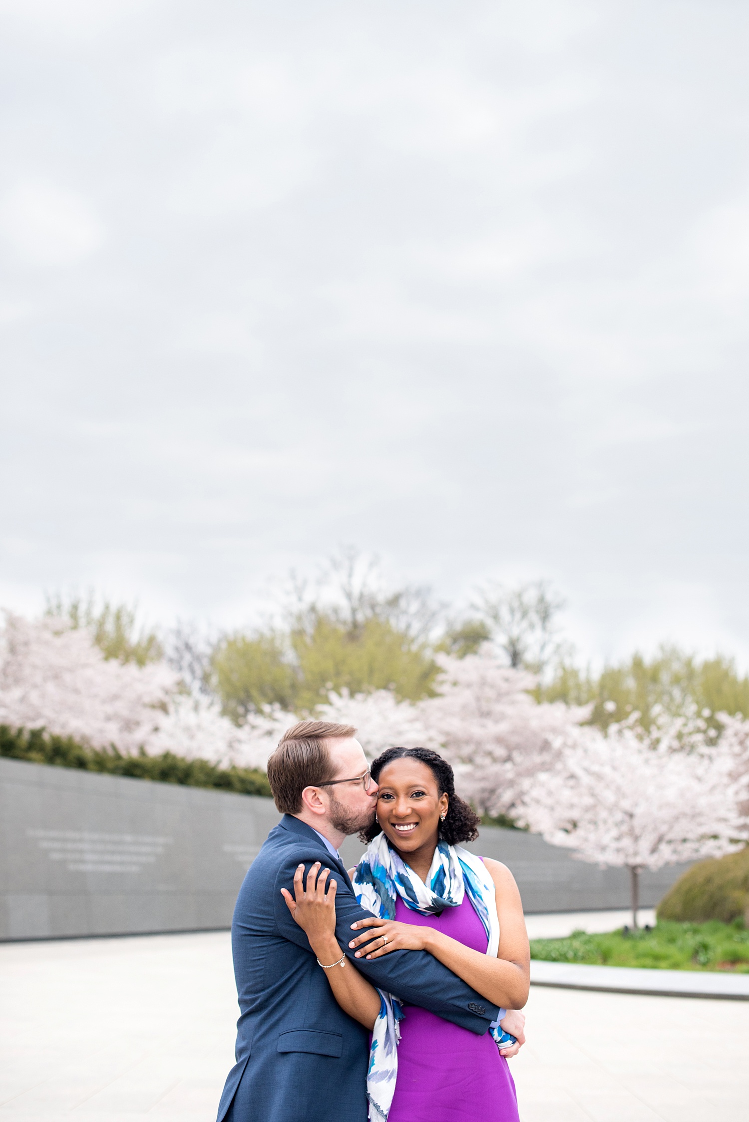
<instances>
[{"instance_id":1,"label":"blue and white patterned scarf draped around the woman's neck","mask_svg":"<svg viewBox=\"0 0 749 1122\"><path fill-rule=\"evenodd\" d=\"M370 842L367 853L357 865L353 888L362 908L381 919L396 918L396 899L422 916L434 916L445 908L457 908L468 898L487 932L487 954L497 957L499 948L499 918L494 882L479 857L460 845L437 843L427 884L414 873L388 843L385 834ZM367 1073L369 1116L387 1119L398 1076L398 1021L404 1018L400 1002L390 993L380 994L380 1012L372 1031L372 1047ZM491 1026L491 1034L499 1048L515 1043L515 1037L505 1032L499 1022L507 1011L500 1009Z\"/></svg>"}]
</instances>

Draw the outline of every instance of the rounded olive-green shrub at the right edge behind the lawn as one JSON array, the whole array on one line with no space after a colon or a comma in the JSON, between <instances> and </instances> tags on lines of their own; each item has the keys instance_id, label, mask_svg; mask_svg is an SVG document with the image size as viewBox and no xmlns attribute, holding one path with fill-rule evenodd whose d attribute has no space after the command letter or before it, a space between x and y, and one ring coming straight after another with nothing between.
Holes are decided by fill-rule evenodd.
<instances>
[{"instance_id":1,"label":"rounded olive-green shrub at the right edge behind the lawn","mask_svg":"<svg viewBox=\"0 0 749 1122\"><path fill-rule=\"evenodd\" d=\"M658 904L658 920L730 923L739 917L749 922L749 846L693 865Z\"/></svg>"}]
</instances>

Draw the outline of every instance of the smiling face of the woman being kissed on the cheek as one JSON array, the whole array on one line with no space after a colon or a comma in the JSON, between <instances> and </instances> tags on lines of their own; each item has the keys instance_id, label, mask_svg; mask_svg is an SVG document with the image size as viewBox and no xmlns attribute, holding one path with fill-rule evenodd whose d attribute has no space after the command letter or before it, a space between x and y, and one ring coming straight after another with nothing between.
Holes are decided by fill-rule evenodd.
<instances>
[{"instance_id":1,"label":"smiling face of the woman being kissed on the cheek","mask_svg":"<svg viewBox=\"0 0 749 1122\"><path fill-rule=\"evenodd\" d=\"M434 849L449 799L440 794L432 769L401 756L385 765L377 782L377 819L388 842L401 853L413 854L424 846Z\"/></svg>"}]
</instances>

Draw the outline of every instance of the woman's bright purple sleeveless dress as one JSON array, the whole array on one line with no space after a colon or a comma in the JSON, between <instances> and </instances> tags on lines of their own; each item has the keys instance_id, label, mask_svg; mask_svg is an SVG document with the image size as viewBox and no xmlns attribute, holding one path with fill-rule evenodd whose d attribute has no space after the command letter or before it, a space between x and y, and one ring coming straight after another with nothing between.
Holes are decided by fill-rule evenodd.
<instances>
[{"instance_id":1,"label":"woman's bright purple sleeveless dress","mask_svg":"<svg viewBox=\"0 0 749 1122\"><path fill-rule=\"evenodd\" d=\"M487 953L487 934L468 895L441 916L420 916L398 898L396 919ZM388 1122L518 1122L515 1083L489 1032L478 1037L417 1005L405 1005L404 1013Z\"/></svg>"}]
</instances>

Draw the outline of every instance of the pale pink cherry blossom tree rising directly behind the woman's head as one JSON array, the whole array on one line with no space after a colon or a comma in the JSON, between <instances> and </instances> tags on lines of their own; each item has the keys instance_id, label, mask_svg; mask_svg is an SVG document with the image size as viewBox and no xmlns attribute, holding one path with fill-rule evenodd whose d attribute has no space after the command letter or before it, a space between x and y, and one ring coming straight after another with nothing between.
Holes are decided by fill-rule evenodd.
<instances>
[{"instance_id":1,"label":"pale pink cherry blossom tree rising directly behind the woman's head","mask_svg":"<svg viewBox=\"0 0 749 1122\"><path fill-rule=\"evenodd\" d=\"M514 816L526 781L551 767L585 707L539 705L533 674L507 666L489 644L464 659L440 655L437 697L419 702L429 742L455 769L461 794L491 816Z\"/></svg>"}]
</instances>

